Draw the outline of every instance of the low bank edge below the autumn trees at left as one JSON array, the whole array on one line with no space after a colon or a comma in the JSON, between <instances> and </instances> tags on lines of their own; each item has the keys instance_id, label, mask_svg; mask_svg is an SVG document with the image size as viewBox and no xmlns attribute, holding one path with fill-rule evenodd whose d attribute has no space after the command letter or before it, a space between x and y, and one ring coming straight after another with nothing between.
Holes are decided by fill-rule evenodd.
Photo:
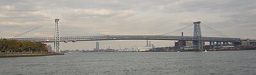
<instances>
[{"instance_id":1,"label":"low bank edge below the autumn trees at left","mask_svg":"<svg viewBox=\"0 0 256 75\"><path fill-rule=\"evenodd\" d=\"M10 53L10 54L0 54L0 58L3 58L3 57L39 57L39 56L49 56L49 55L64 55L64 53Z\"/></svg>"}]
</instances>

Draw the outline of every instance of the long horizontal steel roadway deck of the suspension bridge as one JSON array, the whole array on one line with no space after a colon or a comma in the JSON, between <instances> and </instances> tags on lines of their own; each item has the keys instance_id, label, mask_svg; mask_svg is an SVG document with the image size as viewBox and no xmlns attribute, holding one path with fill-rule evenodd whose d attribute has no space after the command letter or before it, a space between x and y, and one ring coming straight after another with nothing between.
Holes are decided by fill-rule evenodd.
<instances>
[{"instance_id":1,"label":"long horizontal steel roadway deck of the suspension bridge","mask_svg":"<svg viewBox=\"0 0 256 75\"><path fill-rule=\"evenodd\" d=\"M8 38L9 40L15 39L19 41L39 41L43 43L54 43L54 38ZM195 41L193 36L65 36L60 37L61 42L76 42L76 41L102 41L102 40L186 40ZM202 41L221 41L240 43L240 38L215 38L215 37L202 37Z\"/></svg>"}]
</instances>

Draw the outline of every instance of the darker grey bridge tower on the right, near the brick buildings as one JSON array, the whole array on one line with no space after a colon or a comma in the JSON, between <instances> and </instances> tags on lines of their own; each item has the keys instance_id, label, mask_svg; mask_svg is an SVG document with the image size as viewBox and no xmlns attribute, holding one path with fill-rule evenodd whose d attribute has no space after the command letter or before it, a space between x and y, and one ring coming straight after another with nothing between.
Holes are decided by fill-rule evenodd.
<instances>
[{"instance_id":1,"label":"darker grey bridge tower on the right, near the brick buildings","mask_svg":"<svg viewBox=\"0 0 256 75\"><path fill-rule=\"evenodd\" d=\"M203 41L202 41L202 33L201 33L201 22L194 22L194 39L193 41L193 50L202 51L203 50Z\"/></svg>"}]
</instances>

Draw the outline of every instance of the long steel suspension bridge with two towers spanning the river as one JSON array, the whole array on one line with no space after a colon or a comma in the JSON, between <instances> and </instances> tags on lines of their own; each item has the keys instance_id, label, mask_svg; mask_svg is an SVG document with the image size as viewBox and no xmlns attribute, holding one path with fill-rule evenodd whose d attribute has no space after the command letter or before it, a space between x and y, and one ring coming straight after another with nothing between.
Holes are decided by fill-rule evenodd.
<instances>
[{"instance_id":1,"label":"long steel suspension bridge with two towers spanning the river","mask_svg":"<svg viewBox=\"0 0 256 75\"><path fill-rule=\"evenodd\" d=\"M183 36L183 32L181 36L174 35L173 33L177 33L184 29L188 29L188 27L191 27L191 25L184 27L182 29L178 29L174 32L168 32L161 35L150 35L150 36L118 36L118 35L105 35L105 34L99 34L98 35L91 35L91 36L60 36L60 19L55 19L55 31L54 31L54 37L41 37L41 38L17 38L23 34L26 34L28 32L34 31L36 29L39 29L42 27L36 27L35 29L32 29L30 31L24 32L22 34L19 34L17 36L14 36L13 38L7 38L9 40L18 40L18 41L35 41L35 42L42 42L42 43L54 43L54 51L60 51L60 42L77 42L77 41L103 41L103 40L179 40L179 41L193 41L193 50L195 51L202 51L204 50L204 42L209 42L210 46L214 48L216 44L225 44L225 43L241 43L244 39L240 38L229 38L227 35L217 31L217 33L220 33L220 37L204 37L202 36L201 31L201 22L193 22L193 35L191 36ZM210 29L213 31L216 31L215 29L212 29L209 26L205 26L205 29ZM86 31L90 32L90 31ZM214 34L216 32L213 32ZM255 40L250 40L250 43L255 44ZM234 45L234 44L233 44Z\"/></svg>"}]
</instances>

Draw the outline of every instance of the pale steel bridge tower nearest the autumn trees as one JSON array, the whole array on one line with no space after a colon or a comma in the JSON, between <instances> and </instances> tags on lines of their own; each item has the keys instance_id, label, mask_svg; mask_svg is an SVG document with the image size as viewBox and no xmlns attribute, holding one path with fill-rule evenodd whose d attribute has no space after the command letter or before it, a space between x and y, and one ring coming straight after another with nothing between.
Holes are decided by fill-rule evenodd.
<instances>
[{"instance_id":1,"label":"pale steel bridge tower nearest the autumn trees","mask_svg":"<svg viewBox=\"0 0 256 75\"><path fill-rule=\"evenodd\" d=\"M59 20L55 19L55 34L54 34L54 52L60 53L60 29Z\"/></svg>"}]
</instances>

